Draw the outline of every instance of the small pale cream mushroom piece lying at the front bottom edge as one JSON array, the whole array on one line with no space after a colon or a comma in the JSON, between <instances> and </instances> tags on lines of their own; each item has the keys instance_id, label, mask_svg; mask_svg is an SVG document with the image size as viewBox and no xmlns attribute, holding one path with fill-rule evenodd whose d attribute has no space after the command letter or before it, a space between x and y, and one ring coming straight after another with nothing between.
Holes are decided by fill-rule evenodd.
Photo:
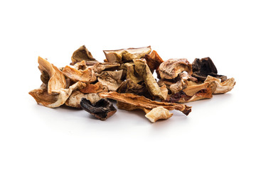
<instances>
[{"instance_id":1,"label":"small pale cream mushroom piece lying at the front bottom edge","mask_svg":"<svg viewBox=\"0 0 256 170\"><path fill-rule=\"evenodd\" d=\"M166 108L159 106L157 108L153 108L149 113L146 113L145 117L148 118L151 123L155 123L156 120L168 119L171 118L172 115L174 114L170 113Z\"/></svg>"}]
</instances>

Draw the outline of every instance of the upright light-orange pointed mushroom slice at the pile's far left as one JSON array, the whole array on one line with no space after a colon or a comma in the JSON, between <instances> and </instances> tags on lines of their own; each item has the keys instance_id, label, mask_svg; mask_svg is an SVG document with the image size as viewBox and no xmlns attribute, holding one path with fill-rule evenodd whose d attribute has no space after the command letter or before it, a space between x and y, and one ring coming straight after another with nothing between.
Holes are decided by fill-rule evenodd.
<instances>
[{"instance_id":1,"label":"upright light-orange pointed mushroom slice at the pile's far left","mask_svg":"<svg viewBox=\"0 0 256 170\"><path fill-rule=\"evenodd\" d=\"M65 88L66 81L63 73L55 67L53 64L50 64L47 60L42 57L38 57L38 69L43 73L43 83L48 84L48 94L60 93L60 89ZM47 77L47 74L49 79ZM42 79L41 77L41 79ZM48 80L48 81L47 81Z\"/></svg>"}]
</instances>

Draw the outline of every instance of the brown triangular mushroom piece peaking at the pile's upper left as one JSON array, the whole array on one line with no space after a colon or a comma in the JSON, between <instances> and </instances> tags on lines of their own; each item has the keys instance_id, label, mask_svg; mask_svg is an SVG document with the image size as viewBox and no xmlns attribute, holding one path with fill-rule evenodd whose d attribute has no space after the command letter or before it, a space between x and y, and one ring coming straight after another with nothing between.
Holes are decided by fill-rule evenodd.
<instances>
[{"instance_id":1,"label":"brown triangular mushroom piece peaking at the pile's upper left","mask_svg":"<svg viewBox=\"0 0 256 170\"><path fill-rule=\"evenodd\" d=\"M82 62L83 60L97 62L97 60L95 60L95 58L92 57L92 54L85 47L85 45L82 45L81 47L78 48L78 50L75 50L75 52L73 52L71 60L73 63Z\"/></svg>"}]
</instances>

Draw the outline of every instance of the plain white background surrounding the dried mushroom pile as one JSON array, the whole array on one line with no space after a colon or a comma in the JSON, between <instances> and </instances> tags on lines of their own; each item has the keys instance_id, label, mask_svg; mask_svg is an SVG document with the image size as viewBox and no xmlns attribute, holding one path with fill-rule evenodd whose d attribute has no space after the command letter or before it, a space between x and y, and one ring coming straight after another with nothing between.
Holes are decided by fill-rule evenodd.
<instances>
[{"instance_id":1,"label":"plain white background surrounding the dried mushroom pile","mask_svg":"<svg viewBox=\"0 0 256 170\"><path fill-rule=\"evenodd\" d=\"M255 1L1 1L0 169L256 169ZM188 103L188 117L106 121L38 106L37 57L57 67L81 45L151 45L164 59L211 57L233 91Z\"/></svg>"}]
</instances>

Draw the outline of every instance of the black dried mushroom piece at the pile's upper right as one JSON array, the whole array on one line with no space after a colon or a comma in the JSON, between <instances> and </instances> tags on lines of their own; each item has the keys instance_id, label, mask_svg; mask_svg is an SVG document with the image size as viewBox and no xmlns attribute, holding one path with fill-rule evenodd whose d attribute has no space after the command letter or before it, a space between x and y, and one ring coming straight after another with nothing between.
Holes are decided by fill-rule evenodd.
<instances>
[{"instance_id":1,"label":"black dried mushroom piece at the pile's upper right","mask_svg":"<svg viewBox=\"0 0 256 170\"><path fill-rule=\"evenodd\" d=\"M215 64L213 64L213 60L210 57L205 57L202 59L196 58L192 63L193 69L193 77L196 77L199 81L205 81L207 76L210 75L217 79L221 79L221 81L225 81L227 79L226 76L219 75Z\"/></svg>"}]
</instances>

